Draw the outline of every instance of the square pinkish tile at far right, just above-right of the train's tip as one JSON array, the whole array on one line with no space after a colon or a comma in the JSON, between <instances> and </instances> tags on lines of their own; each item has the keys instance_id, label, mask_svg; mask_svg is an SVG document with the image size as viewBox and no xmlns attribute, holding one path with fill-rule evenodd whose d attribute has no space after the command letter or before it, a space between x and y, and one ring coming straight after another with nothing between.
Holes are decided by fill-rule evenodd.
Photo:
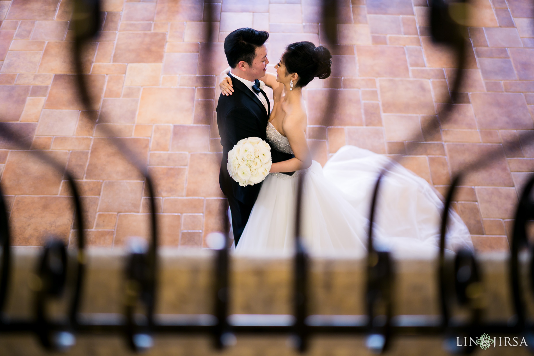
<instances>
[{"instance_id":1,"label":"square pinkish tile at far right, just above-right of the train's tip","mask_svg":"<svg viewBox=\"0 0 534 356\"><path fill-rule=\"evenodd\" d=\"M476 187L483 218L512 219L517 205L514 188Z\"/></svg>"}]
</instances>

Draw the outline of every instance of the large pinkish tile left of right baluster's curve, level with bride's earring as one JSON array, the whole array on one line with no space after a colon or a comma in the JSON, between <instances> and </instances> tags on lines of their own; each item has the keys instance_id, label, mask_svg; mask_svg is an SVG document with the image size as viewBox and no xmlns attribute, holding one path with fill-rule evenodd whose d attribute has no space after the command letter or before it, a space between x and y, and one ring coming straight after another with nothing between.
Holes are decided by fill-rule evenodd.
<instances>
[{"instance_id":1,"label":"large pinkish tile left of right baluster's curve, level with bride's earring","mask_svg":"<svg viewBox=\"0 0 534 356\"><path fill-rule=\"evenodd\" d=\"M380 79L379 85L384 113L435 113L429 81Z\"/></svg>"}]
</instances>

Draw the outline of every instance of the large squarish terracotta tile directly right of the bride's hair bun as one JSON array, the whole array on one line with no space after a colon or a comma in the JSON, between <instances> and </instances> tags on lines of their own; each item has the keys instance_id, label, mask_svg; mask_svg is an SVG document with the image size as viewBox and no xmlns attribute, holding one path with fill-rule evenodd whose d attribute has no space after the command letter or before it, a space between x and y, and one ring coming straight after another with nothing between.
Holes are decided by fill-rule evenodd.
<instances>
[{"instance_id":1,"label":"large squarish terracotta tile directly right of the bride's hair bun","mask_svg":"<svg viewBox=\"0 0 534 356\"><path fill-rule=\"evenodd\" d=\"M402 47L357 46L358 72L363 77L409 77Z\"/></svg>"}]
</instances>

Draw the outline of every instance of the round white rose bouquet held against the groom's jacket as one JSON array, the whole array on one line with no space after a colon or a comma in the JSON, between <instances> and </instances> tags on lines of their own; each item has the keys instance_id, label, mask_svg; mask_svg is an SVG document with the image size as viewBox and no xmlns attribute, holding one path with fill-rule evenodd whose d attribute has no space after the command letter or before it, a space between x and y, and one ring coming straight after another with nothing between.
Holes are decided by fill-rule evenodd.
<instances>
[{"instance_id":1,"label":"round white rose bouquet held against the groom's jacket","mask_svg":"<svg viewBox=\"0 0 534 356\"><path fill-rule=\"evenodd\" d=\"M240 186L260 183L271 170L271 147L258 137L240 140L228 153L228 173Z\"/></svg>"}]
</instances>

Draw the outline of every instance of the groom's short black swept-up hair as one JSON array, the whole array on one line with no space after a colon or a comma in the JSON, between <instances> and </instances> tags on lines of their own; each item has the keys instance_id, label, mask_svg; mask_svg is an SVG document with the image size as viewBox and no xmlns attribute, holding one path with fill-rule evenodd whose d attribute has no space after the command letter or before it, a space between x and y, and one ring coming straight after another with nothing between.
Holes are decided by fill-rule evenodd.
<instances>
[{"instance_id":1,"label":"groom's short black swept-up hair","mask_svg":"<svg viewBox=\"0 0 534 356\"><path fill-rule=\"evenodd\" d=\"M256 48L262 46L269 38L267 31L258 31L249 27L238 28L224 39L224 54L230 67L235 68L240 61L249 66L256 57Z\"/></svg>"}]
</instances>

